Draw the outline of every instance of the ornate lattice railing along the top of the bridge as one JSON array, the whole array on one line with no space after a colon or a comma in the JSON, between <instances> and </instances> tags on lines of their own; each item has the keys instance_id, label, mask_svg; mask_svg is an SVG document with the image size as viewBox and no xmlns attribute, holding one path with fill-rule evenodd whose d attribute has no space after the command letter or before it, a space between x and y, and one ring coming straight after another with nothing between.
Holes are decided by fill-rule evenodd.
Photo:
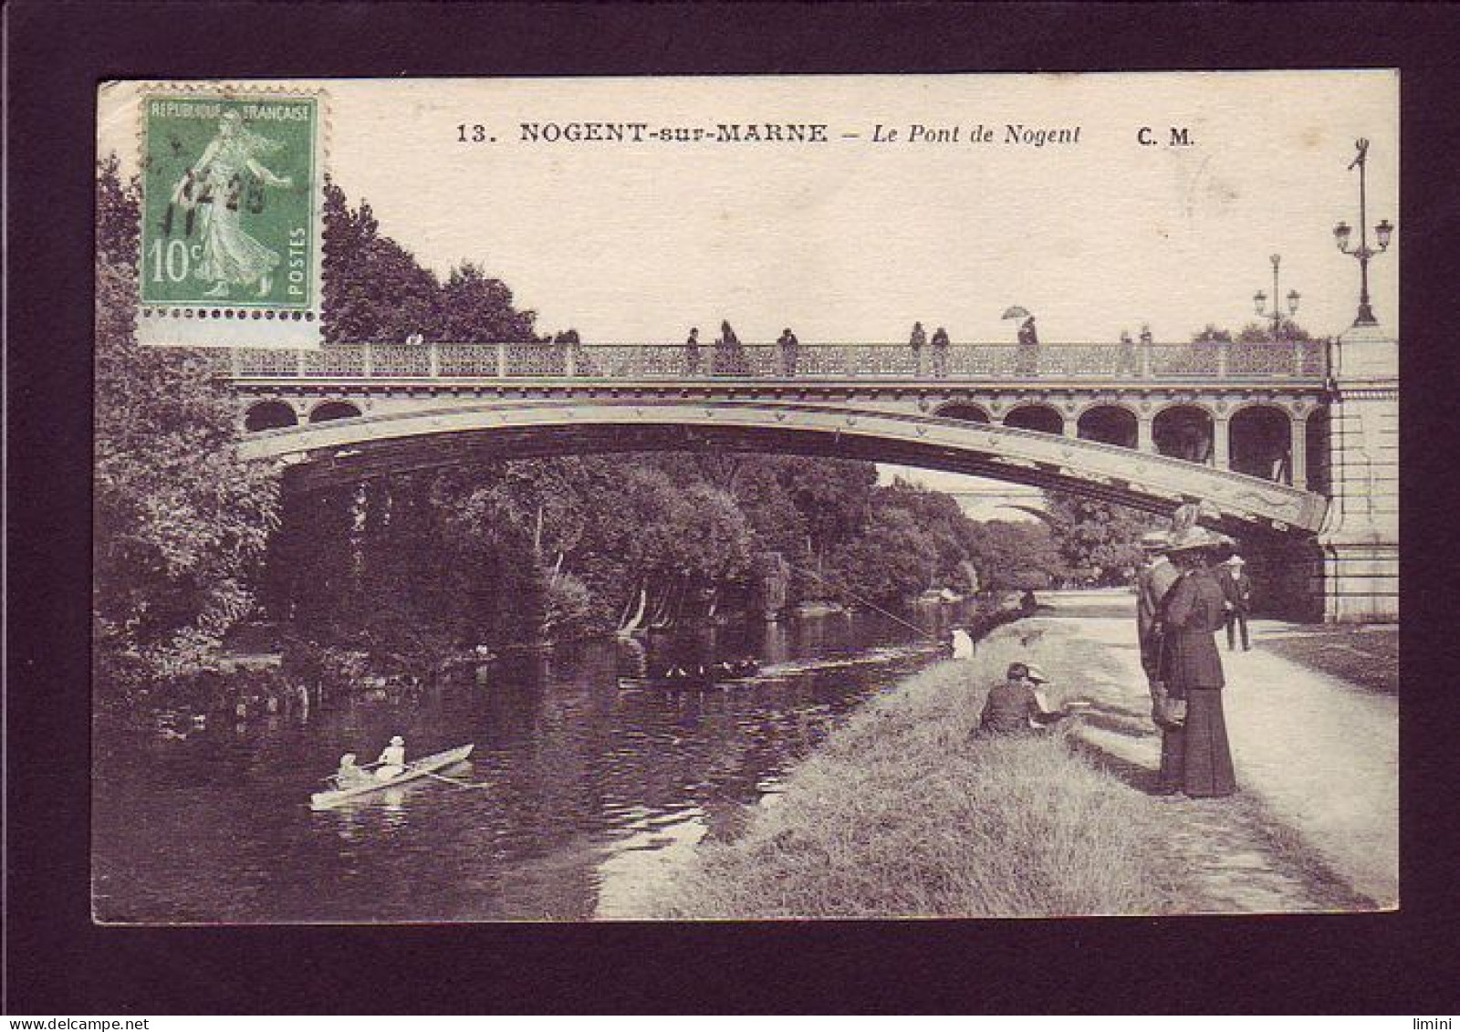
<instances>
[{"instance_id":1,"label":"ornate lattice railing along the top of the bridge","mask_svg":"<svg viewBox=\"0 0 1460 1032\"><path fill-rule=\"evenodd\" d=\"M1327 342L777 344L369 343L312 352L229 349L234 380L902 380L1294 381L1321 384Z\"/></svg>"}]
</instances>

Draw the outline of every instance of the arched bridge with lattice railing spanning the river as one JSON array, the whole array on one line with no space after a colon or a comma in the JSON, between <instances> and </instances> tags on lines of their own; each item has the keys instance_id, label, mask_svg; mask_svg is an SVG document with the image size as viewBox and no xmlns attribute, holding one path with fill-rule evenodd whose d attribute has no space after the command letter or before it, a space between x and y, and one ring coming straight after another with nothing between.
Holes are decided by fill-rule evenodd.
<instances>
[{"instance_id":1,"label":"arched bridge with lattice railing spanning the river","mask_svg":"<svg viewBox=\"0 0 1460 1032\"><path fill-rule=\"evenodd\" d=\"M723 447L1063 488L1225 528L1327 508L1326 342L349 344L232 350L244 454L299 489L479 457ZM1298 485L1298 486L1294 486Z\"/></svg>"}]
</instances>

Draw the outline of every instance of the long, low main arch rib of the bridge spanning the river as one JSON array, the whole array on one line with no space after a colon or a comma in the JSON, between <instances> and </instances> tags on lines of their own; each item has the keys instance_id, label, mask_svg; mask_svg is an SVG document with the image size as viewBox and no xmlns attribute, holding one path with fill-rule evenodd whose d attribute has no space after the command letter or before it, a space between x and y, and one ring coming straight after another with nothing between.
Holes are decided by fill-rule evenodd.
<instances>
[{"instance_id":1,"label":"long, low main arch rib of the bridge spanning the river","mask_svg":"<svg viewBox=\"0 0 1460 1032\"><path fill-rule=\"evenodd\" d=\"M245 458L280 460L310 490L483 458L727 448L828 455L1058 488L1171 512L1209 499L1223 528L1311 533L1321 496L1129 448L964 419L816 403L724 400L486 401L254 434Z\"/></svg>"}]
</instances>

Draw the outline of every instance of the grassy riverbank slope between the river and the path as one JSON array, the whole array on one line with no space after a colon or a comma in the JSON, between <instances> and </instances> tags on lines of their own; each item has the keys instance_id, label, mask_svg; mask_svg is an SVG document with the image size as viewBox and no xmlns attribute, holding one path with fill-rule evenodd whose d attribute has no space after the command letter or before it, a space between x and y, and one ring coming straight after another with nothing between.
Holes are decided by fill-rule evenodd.
<instances>
[{"instance_id":1,"label":"grassy riverbank slope between the river and the path","mask_svg":"<svg viewBox=\"0 0 1460 1032\"><path fill-rule=\"evenodd\" d=\"M875 699L762 801L733 842L701 847L657 917L1149 914L1149 800L1063 731L971 737L987 689L1038 655L1018 629ZM1058 705L1058 696L1051 705Z\"/></svg>"}]
</instances>

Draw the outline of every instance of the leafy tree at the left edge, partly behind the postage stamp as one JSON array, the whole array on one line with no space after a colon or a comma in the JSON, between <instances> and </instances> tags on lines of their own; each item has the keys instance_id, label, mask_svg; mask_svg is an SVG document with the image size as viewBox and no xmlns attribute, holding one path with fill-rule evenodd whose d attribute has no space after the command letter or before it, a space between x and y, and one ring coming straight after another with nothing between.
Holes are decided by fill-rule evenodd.
<instances>
[{"instance_id":1,"label":"leafy tree at the left edge, partly behind the postage stamp","mask_svg":"<svg viewBox=\"0 0 1460 1032\"><path fill-rule=\"evenodd\" d=\"M238 457L234 401L191 349L136 340L136 184L98 165L93 648L130 690L197 669L253 609L277 470Z\"/></svg>"}]
</instances>

